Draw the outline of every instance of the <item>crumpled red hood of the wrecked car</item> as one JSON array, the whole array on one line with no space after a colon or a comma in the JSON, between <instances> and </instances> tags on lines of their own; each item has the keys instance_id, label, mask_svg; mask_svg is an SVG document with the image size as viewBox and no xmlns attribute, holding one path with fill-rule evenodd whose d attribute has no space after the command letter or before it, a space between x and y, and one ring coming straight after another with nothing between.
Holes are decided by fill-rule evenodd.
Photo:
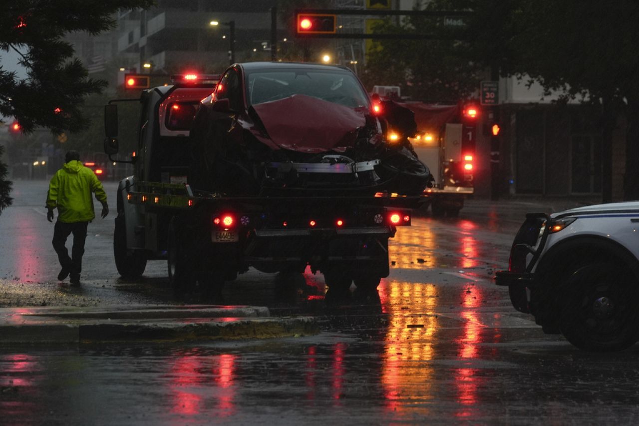
<instances>
[{"instance_id":1,"label":"crumpled red hood of the wrecked car","mask_svg":"<svg viewBox=\"0 0 639 426\"><path fill-rule=\"evenodd\" d=\"M353 146L364 113L326 100L293 95L254 105L269 138L280 148L316 154Z\"/></svg>"}]
</instances>

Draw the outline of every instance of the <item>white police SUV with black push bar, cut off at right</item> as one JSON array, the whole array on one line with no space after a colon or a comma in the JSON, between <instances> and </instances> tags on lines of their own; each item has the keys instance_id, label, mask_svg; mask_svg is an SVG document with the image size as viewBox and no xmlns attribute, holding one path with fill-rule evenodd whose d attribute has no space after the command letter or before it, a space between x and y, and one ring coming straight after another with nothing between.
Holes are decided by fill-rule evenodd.
<instances>
[{"instance_id":1,"label":"white police SUV with black push bar, cut off at right","mask_svg":"<svg viewBox=\"0 0 639 426\"><path fill-rule=\"evenodd\" d=\"M639 201L527 214L497 285L545 333L586 351L639 340Z\"/></svg>"}]
</instances>

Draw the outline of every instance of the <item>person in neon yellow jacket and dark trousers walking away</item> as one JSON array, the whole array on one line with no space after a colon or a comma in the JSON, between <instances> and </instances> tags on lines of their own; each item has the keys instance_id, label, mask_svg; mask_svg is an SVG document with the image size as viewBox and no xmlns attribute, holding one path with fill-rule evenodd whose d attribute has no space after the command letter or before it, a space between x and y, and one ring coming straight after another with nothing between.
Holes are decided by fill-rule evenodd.
<instances>
[{"instance_id":1,"label":"person in neon yellow jacket and dark trousers walking away","mask_svg":"<svg viewBox=\"0 0 639 426\"><path fill-rule=\"evenodd\" d=\"M65 164L56 172L49 182L47 193L47 219L53 221L53 210L58 209L58 221L53 232L53 248L58 253L62 270L58 280L63 281L69 274L70 283L80 285L82 272L82 255L84 241L89 222L95 219L91 195L102 203L102 218L109 214L107 194L102 183L93 170L84 167L77 151L69 151L65 156ZM66 249L66 239L73 233L71 257Z\"/></svg>"}]
</instances>

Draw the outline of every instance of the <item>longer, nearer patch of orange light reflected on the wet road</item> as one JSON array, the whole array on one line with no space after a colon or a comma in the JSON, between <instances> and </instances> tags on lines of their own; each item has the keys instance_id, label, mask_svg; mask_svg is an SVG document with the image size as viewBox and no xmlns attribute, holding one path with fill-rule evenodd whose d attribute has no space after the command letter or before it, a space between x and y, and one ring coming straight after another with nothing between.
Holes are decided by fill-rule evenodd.
<instances>
[{"instance_id":1,"label":"longer, nearer patch of orange light reflected on the wet road","mask_svg":"<svg viewBox=\"0 0 639 426\"><path fill-rule=\"evenodd\" d=\"M381 373L385 406L394 413L410 410L427 414L427 408L415 411L414 406L402 399L431 398L434 370L429 363L420 361L430 361L434 356L439 326L434 313L438 301L436 288L432 284L401 281L387 281L386 287L390 317ZM420 390L419 395L414 394L415 389Z\"/></svg>"}]
</instances>

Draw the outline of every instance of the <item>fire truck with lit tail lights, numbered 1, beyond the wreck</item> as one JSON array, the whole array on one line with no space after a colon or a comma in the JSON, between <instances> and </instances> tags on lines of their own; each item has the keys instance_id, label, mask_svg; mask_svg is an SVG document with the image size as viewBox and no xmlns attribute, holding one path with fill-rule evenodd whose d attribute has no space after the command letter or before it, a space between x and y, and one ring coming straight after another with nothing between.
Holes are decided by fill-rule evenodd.
<instances>
[{"instance_id":1,"label":"fire truck with lit tail lights, numbered 1, beyond the wreck","mask_svg":"<svg viewBox=\"0 0 639 426\"><path fill-rule=\"evenodd\" d=\"M403 102L415 114L417 134L409 138L415 153L427 164L435 182L427 188L433 216L456 217L472 196L475 171L476 122L479 107Z\"/></svg>"}]
</instances>

